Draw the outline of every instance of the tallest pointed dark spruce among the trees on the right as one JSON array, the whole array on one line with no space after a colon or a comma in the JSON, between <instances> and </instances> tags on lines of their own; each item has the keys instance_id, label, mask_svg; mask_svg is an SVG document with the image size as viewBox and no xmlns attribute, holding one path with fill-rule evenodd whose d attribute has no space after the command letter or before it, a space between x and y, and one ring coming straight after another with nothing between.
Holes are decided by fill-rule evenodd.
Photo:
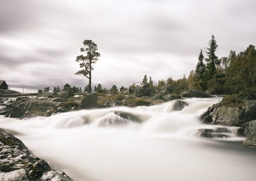
<instances>
[{"instance_id":1,"label":"tallest pointed dark spruce among the trees on the right","mask_svg":"<svg viewBox=\"0 0 256 181\"><path fill-rule=\"evenodd\" d=\"M205 61L207 61L207 78L208 80L210 80L211 78L213 78L214 73L216 72L216 65L220 64L218 57L215 55L218 45L213 34L208 45L209 48L207 48L208 51L206 52L208 58L205 59Z\"/></svg>"}]
</instances>

